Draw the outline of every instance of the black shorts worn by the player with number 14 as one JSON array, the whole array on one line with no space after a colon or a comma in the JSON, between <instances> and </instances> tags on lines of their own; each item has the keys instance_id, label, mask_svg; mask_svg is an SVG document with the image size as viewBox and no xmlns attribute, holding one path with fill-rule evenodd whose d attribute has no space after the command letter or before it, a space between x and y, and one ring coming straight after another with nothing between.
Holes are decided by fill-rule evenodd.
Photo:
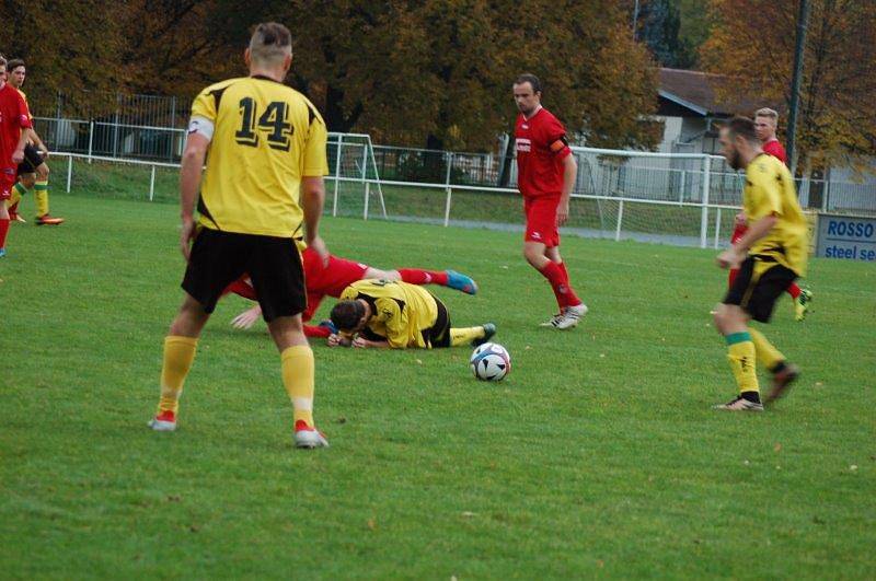
<instances>
[{"instance_id":1,"label":"black shorts worn by the player with number 14","mask_svg":"<svg viewBox=\"0 0 876 581\"><path fill-rule=\"evenodd\" d=\"M212 313L222 291L244 274L253 281L268 323L307 307L304 269L292 239L219 232L201 228L183 279L183 290Z\"/></svg>"}]
</instances>

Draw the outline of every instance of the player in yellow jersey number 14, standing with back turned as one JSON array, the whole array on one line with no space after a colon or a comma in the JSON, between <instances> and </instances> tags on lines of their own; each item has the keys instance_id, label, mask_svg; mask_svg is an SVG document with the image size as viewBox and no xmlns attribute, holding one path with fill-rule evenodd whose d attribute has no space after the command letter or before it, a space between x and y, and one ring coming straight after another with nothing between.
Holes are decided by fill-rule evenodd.
<instances>
[{"instance_id":1,"label":"player in yellow jersey number 14, standing with back turned","mask_svg":"<svg viewBox=\"0 0 876 581\"><path fill-rule=\"evenodd\" d=\"M301 323L307 301L296 246L296 237L303 237L328 257L318 232L327 133L316 108L283 84L292 62L286 26L260 24L244 60L249 77L208 86L192 106L180 171L186 295L164 340L161 398L150 426L176 428L200 332L226 287L247 272L280 351L283 383L295 409L295 443L327 446L313 425L314 363Z\"/></svg>"}]
</instances>

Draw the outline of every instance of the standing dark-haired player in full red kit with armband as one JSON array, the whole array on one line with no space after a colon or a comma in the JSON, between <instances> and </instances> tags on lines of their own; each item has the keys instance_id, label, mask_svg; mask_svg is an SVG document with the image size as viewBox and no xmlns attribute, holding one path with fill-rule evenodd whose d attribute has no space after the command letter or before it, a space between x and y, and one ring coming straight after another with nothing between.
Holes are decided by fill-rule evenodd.
<instances>
[{"instance_id":1,"label":"standing dark-haired player in full red kit with armband","mask_svg":"<svg viewBox=\"0 0 876 581\"><path fill-rule=\"evenodd\" d=\"M560 256L560 226L568 219L568 204L578 165L568 148L566 130L541 106L541 82L521 74L514 83L517 116L517 187L523 196L527 231L523 256L551 283L560 312L542 326L572 328L587 313L575 294Z\"/></svg>"}]
</instances>

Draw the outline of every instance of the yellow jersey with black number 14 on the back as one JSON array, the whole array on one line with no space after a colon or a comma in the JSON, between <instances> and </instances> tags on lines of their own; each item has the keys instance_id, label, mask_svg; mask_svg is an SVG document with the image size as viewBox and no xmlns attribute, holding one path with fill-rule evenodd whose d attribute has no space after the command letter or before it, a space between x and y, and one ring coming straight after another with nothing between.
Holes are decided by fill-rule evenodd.
<instances>
[{"instance_id":1,"label":"yellow jersey with black number 14 on the back","mask_svg":"<svg viewBox=\"0 0 876 581\"><path fill-rule=\"evenodd\" d=\"M265 77L211 84L192 105L211 128L198 222L214 230L300 237L301 178L328 173L327 132L301 93Z\"/></svg>"}]
</instances>

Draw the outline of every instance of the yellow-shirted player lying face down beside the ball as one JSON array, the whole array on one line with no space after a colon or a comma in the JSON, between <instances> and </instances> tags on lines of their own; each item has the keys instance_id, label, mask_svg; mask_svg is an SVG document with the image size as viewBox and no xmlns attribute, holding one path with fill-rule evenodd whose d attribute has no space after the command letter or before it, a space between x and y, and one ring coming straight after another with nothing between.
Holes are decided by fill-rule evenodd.
<instances>
[{"instance_id":1,"label":"yellow-shirted player lying face down beside the ball","mask_svg":"<svg viewBox=\"0 0 876 581\"><path fill-rule=\"evenodd\" d=\"M445 304L416 284L395 280L359 280L341 293L332 309L339 334L331 347L431 349L481 345L496 334L496 325L451 327Z\"/></svg>"}]
</instances>

